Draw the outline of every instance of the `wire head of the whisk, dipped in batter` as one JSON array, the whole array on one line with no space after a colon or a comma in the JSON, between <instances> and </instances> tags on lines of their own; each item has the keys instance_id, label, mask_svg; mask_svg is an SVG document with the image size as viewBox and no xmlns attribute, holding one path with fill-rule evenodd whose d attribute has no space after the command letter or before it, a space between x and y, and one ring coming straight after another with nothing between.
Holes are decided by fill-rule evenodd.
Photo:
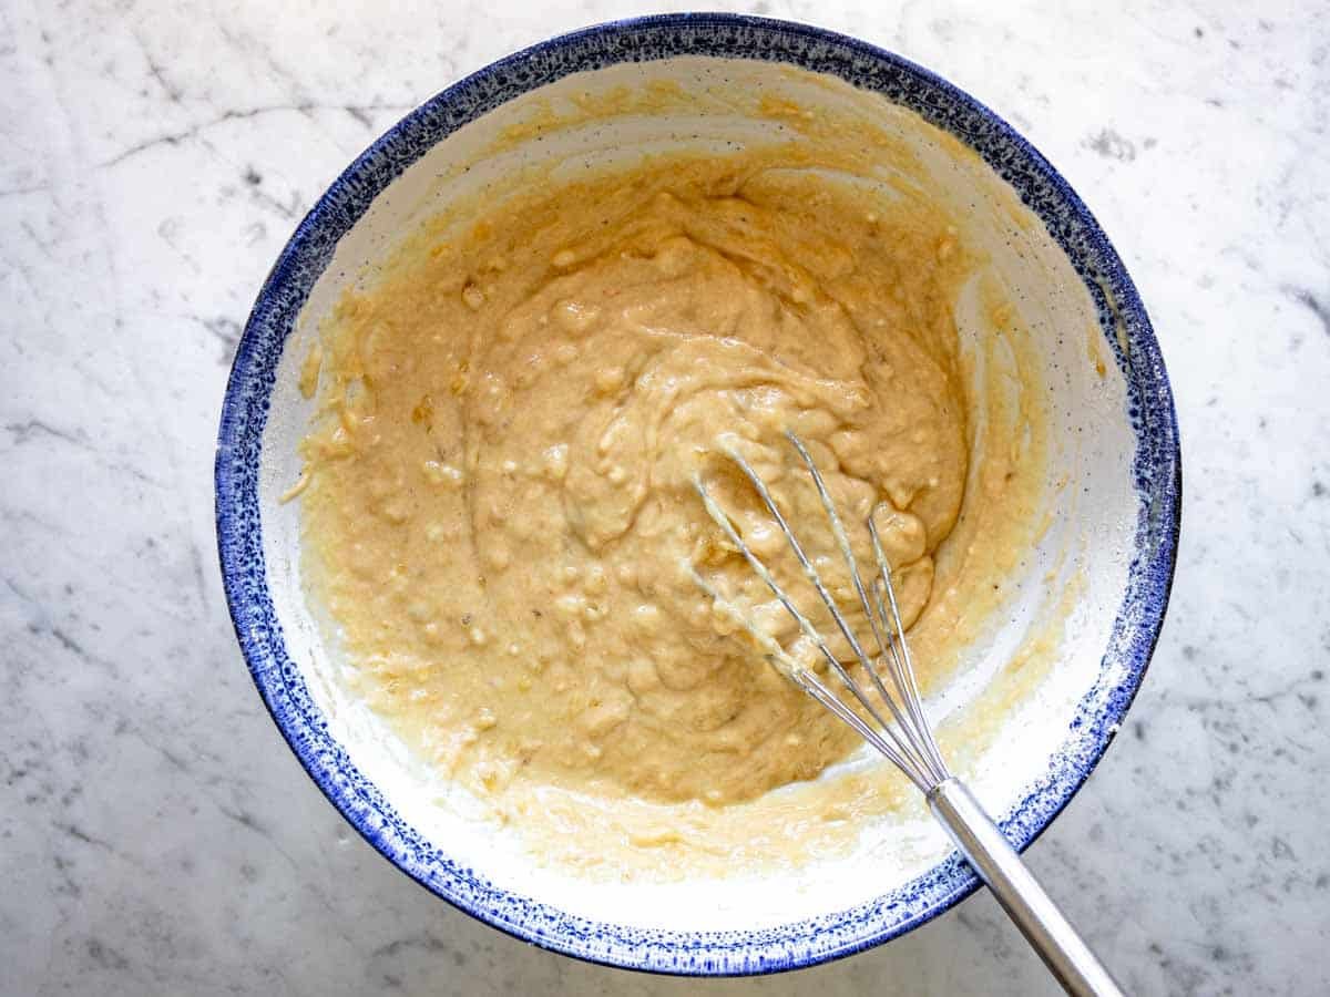
<instances>
[{"instance_id":1,"label":"wire head of the whisk, dipped in batter","mask_svg":"<svg viewBox=\"0 0 1330 997\"><path fill-rule=\"evenodd\" d=\"M803 460L809 473L813 476L813 484L817 487L818 497L822 500L822 506L826 509L827 520L831 525L831 533L834 534L837 546L839 546L841 554L845 557L846 565L850 569L850 580L854 584L854 590L859 597L864 617L868 621L868 629L871 630L872 643L867 649L864 649L859 637L854 633L854 629L846 619L845 613L841 611L831 596L831 592L827 589L826 582L818 573L817 566L813 564L813 560L799 542L799 538L794 534L794 530L790 529L789 522L781 513L779 506L775 504L775 498L771 497L771 492L766 487L766 483L737 451L726 448L722 452L753 484L757 495L761 497L762 502L771 513L771 517L775 520L775 524L785 534L785 538L789 541L794 556L798 558L798 562L803 569L805 577L807 577L809 582L817 590L823 605L826 605L827 611L831 614L831 618L835 621L842 637L845 637L846 642L850 645L854 661L858 662L859 667L868 677L870 682L867 686L857 679L851 674L850 669L842 663L839 657L833 653L831 647L827 645L826 637L819 633L809 617L799 610L786 589L781 586L767 566L754 553L753 548L743 540L738 529L734 526L734 522L712 497L712 493L708 491L701 477L694 480L694 485L698 495L702 497L706 512L725 532L725 536L734 545L734 548L743 554L753 570L757 572L758 577L762 578L767 588L771 589L771 593L781 601L781 605L785 606L786 611L789 611L789 614L798 623L799 630L822 653L822 657L826 658L831 673L835 674L841 685L845 686L846 693L849 693L853 701L859 705L862 713L855 710L849 702L829 689L827 683L823 682L815 671L795 661L794 657L790 655L770 634L759 630L749 614L728 602L725 597L696 569L692 566L689 568L698 585L701 585L712 596L717 605L730 610L738 623L753 637L754 641L757 641L758 646L762 647L767 659L773 665L775 665L795 685L803 689L803 691L858 731L864 740L895 763L895 766L900 768L900 771L904 772L920 791L927 794L939 783L948 779L950 772L947 771L946 763L942 760L938 744L932 738L932 731L928 728L928 723L923 715L923 707L919 702L919 686L915 682L914 662L910 658L910 647L904 638L904 626L902 626L900 622L900 609L896 605L895 589L891 585L891 566L887 564L886 554L883 554L878 528L874 524L872 514L870 512L867 529L872 541L874 557L876 560L876 574L872 576L866 585L863 576L859 573L859 565L854 556L854 550L850 546L850 538L846 533L845 524L842 522L839 513L837 513L835 504L831 501L831 495L827 492L826 483L822 480L822 475L818 472L817 464L813 461L813 456L809 453L803 441L799 440L798 436L793 432L786 432L786 436L798 451L799 457ZM890 678L890 689L887 682L883 681L883 670L886 670Z\"/></svg>"}]
</instances>

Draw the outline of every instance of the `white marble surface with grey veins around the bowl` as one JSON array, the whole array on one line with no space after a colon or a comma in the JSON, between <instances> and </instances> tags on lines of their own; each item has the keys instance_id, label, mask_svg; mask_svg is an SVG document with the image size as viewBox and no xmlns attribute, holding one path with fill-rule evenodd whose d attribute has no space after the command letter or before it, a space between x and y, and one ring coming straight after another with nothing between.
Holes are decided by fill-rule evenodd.
<instances>
[{"instance_id":1,"label":"white marble surface with grey veins around the bowl","mask_svg":"<svg viewBox=\"0 0 1330 997\"><path fill-rule=\"evenodd\" d=\"M412 885L305 778L222 604L211 461L301 214L460 74L629 4L0 5L0 992L678 994ZM1177 392L1185 528L1128 730L1033 865L1132 992L1330 989L1330 16L751 9L902 52L1099 214ZM1204 7L1205 9L1200 9ZM987 895L717 993L1053 993Z\"/></svg>"}]
</instances>

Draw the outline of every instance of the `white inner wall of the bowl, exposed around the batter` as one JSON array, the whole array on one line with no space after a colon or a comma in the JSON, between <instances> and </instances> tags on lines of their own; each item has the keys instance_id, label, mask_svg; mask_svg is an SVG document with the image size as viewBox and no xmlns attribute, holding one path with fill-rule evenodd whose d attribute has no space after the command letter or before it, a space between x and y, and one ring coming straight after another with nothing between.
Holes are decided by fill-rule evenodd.
<instances>
[{"instance_id":1,"label":"white inner wall of the bowl, exposed around the batter","mask_svg":"<svg viewBox=\"0 0 1330 997\"><path fill-rule=\"evenodd\" d=\"M496 136L536 110L557 110L573 96L662 81L694 93L694 113L624 114L547 130L540 142L493 150ZM1048 771L1067 738L1076 703L1101 678L1138 510L1125 383L1080 277L1043 225L987 165L974 156L958 156L954 142L939 141L939 132L882 97L773 62L676 57L565 77L504 104L435 145L340 241L286 343L261 467L263 553L273 602L291 659L302 669L330 734L427 840L497 887L569 913L644 928L762 928L843 911L906 884L943 859L950 847L920 808L864 828L861 845L850 855L775 875L737 871L728 881L624 884L587 881L543 867L516 840L480 820L463 791L416 764L396 735L344 693L339 679L343 662L335 641L325 639L330 627L319 625L301 584L298 504L278 498L299 476L297 444L311 415L311 403L297 387L301 363L319 319L348 283L372 279L372 265L402 235L443 205L483 190L516 166L604 164L650 148L708 148L770 134L773 120L726 106L717 100L718 92L779 94L811 109L861 102L863 113L899 133L928 165L935 195L963 209L958 210L962 239L987 251L990 275L1007 288L1021 324L1037 343L1052 391L1044 501L1048 528L999 614L1009 621L972 649L971 665L930 703L935 718L959 715L983 697L1015 649L1036 635L1047 642L1053 667L1001 718L996 735L959 763L995 815L1007 814ZM458 169L463 165L469 169ZM966 339L992 335L974 296L956 303Z\"/></svg>"}]
</instances>

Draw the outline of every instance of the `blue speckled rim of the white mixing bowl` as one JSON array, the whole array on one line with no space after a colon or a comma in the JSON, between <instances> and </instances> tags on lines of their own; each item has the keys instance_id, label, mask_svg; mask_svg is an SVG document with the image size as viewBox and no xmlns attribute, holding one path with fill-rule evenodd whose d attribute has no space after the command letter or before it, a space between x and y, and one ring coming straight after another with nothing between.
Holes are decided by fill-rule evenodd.
<instances>
[{"instance_id":1,"label":"blue speckled rim of the white mixing bowl","mask_svg":"<svg viewBox=\"0 0 1330 997\"><path fill-rule=\"evenodd\" d=\"M569 73L672 56L789 62L878 92L974 148L1044 221L1100 310L1128 386L1141 498L1134 557L1096 686L1048 772L1000 822L1028 845L1085 782L1145 674L1177 553L1181 456L1173 396L1136 287L1089 210L1001 118L912 62L819 28L737 15L616 21L519 52L450 86L371 145L329 187L286 245L241 338L217 441L217 540L235 634L263 702L327 798L403 872L467 913L536 945L595 962L654 972L733 976L825 962L880 944L938 916L976 887L952 855L912 883L835 915L765 931L668 932L571 916L489 884L406 824L327 731L287 654L267 588L258 498L263 427L287 335L338 241L371 201L431 146L493 108ZM1123 347L1125 343L1125 348Z\"/></svg>"}]
</instances>

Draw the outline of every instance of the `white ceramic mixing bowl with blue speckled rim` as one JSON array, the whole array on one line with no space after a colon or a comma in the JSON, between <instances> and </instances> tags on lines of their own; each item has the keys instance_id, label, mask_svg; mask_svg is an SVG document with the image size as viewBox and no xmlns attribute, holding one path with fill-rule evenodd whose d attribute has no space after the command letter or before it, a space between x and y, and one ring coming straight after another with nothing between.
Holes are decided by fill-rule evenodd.
<instances>
[{"instance_id":1,"label":"white ceramic mixing bowl with blue speckled rim","mask_svg":"<svg viewBox=\"0 0 1330 997\"><path fill-rule=\"evenodd\" d=\"M278 501L299 472L310 408L297 382L317 320L414 222L551 148L604 157L650 144L743 141L745 129L770 124L741 112L638 116L544 136L551 141L539 148L485 152L532 106L661 81L890 112L932 164L938 195L962 206L963 238L990 254L1039 340L1053 392L1057 495L1013 586L1011 633L975 650L958 689L983 686L1012 641L1063 606L1055 666L967 768L1017 848L1048 826L1119 730L1164 617L1181 483L1169 383L1121 261L1056 170L968 94L862 41L728 15L605 24L504 58L403 118L319 199L259 292L222 411L217 532L235 633L263 702L334 806L403 872L567 954L674 973L759 973L899 936L970 893L975 876L940 833L919 828L910 848L823 865L815 881L790 872L739 885L580 885L531 867L483 828L440 815L427 775L347 699L302 593L295 504Z\"/></svg>"}]
</instances>

